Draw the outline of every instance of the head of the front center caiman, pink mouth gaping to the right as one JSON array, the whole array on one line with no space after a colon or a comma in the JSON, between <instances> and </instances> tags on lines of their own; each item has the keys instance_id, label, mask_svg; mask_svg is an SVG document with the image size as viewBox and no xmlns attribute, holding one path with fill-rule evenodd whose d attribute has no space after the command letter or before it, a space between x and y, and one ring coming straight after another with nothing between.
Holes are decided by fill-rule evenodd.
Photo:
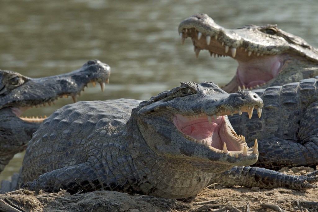
<instances>
[{"instance_id":1,"label":"head of the front center caiman, pink mouth gaping to the right","mask_svg":"<svg viewBox=\"0 0 318 212\"><path fill-rule=\"evenodd\" d=\"M180 87L141 102L128 123L136 123L155 155L220 173L257 161L257 147L247 147L227 116L242 112L251 116L254 108L260 116L262 107L262 99L250 90L228 94L213 82L181 82Z\"/></svg>"}]
</instances>

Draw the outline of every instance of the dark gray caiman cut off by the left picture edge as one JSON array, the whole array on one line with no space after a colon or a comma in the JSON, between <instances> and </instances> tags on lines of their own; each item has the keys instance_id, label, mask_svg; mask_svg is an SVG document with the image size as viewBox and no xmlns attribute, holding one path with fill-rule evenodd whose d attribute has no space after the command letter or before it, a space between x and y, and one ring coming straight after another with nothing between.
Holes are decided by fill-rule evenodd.
<instances>
[{"instance_id":1,"label":"dark gray caiman cut off by the left picture edge","mask_svg":"<svg viewBox=\"0 0 318 212\"><path fill-rule=\"evenodd\" d=\"M0 70L0 173L14 154L26 149L43 119L20 118L33 106L51 104L62 96L76 95L89 82L108 82L110 67L89 60L80 69L56 76L30 78L17 72Z\"/></svg>"}]
</instances>

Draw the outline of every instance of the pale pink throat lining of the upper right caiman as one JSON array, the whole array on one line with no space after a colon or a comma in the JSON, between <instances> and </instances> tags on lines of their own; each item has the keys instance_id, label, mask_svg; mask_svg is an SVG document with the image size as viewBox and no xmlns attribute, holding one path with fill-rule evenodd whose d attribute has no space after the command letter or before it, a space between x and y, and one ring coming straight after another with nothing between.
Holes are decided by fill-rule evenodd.
<instances>
[{"instance_id":1,"label":"pale pink throat lining of the upper right caiman","mask_svg":"<svg viewBox=\"0 0 318 212\"><path fill-rule=\"evenodd\" d=\"M282 67L280 56L263 56L256 59L238 61L236 75L240 86L253 87L275 78Z\"/></svg>"}]
</instances>

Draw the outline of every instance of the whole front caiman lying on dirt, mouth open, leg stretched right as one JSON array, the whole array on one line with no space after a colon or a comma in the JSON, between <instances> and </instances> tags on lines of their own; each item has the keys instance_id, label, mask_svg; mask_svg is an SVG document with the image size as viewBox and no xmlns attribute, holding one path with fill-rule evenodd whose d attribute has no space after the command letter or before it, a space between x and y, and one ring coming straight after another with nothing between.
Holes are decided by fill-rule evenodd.
<instances>
[{"instance_id":1,"label":"whole front caiman lying on dirt, mouth open, leg stretched right","mask_svg":"<svg viewBox=\"0 0 318 212\"><path fill-rule=\"evenodd\" d=\"M315 187L310 183L318 181L317 173L230 170L255 163L258 150L238 138L227 115L262 106L252 91L229 95L211 82L181 83L144 102L66 105L45 119L31 139L22 185L35 191L115 190L173 199L195 195L211 180L232 183L233 177L243 186Z\"/></svg>"}]
</instances>

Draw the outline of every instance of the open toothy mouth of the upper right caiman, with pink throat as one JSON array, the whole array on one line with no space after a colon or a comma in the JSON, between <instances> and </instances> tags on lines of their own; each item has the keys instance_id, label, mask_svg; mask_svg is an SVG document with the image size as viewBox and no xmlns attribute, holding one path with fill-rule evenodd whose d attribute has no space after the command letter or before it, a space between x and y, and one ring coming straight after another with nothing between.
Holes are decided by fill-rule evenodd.
<instances>
[{"instance_id":1,"label":"open toothy mouth of the upper right caiman, with pink throat","mask_svg":"<svg viewBox=\"0 0 318 212\"><path fill-rule=\"evenodd\" d=\"M222 88L229 93L241 88L253 89L265 85L280 73L289 57L288 54L261 53L249 46L228 46L230 44L227 45L218 35L204 35L195 28L184 28L180 36L182 44L187 37L192 39L197 57L205 49L213 57L229 56L238 62L234 78Z\"/></svg>"}]
</instances>

